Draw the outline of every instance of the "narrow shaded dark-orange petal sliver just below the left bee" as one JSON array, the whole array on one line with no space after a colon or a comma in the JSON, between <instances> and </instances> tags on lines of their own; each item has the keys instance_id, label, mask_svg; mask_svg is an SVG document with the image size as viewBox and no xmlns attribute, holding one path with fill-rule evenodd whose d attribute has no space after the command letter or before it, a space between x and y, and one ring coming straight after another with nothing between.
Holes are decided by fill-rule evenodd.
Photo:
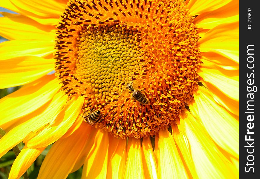
<instances>
[{"instance_id":1,"label":"narrow shaded dark-orange petal sliver just below the left bee","mask_svg":"<svg viewBox=\"0 0 260 179\"><path fill-rule=\"evenodd\" d=\"M85 163L85 160L88 156L88 153L89 153L89 151L91 150L91 148L94 144L95 136L97 135L98 131L99 131L98 129L91 127L91 130L86 137L87 143L84 146L84 149L82 150L82 152L79 154L79 158L76 161L73 169L71 170L71 173L77 171Z\"/></svg>"}]
</instances>

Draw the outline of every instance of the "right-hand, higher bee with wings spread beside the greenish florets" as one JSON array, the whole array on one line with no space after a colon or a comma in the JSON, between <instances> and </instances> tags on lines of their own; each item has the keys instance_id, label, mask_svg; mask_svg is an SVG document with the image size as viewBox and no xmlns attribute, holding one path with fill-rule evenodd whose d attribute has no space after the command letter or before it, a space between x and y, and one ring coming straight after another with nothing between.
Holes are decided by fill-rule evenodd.
<instances>
[{"instance_id":1,"label":"right-hand, higher bee with wings spread beside the greenish florets","mask_svg":"<svg viewBox=\"0 0 260 179\"><path fill-rule=\"evenodd\" d=\"M150 104L149 99L146 97L146 95L143 92L141 92L138 89L134 89L132 81L126 82L126 88L132 93L132 97L140 104L144 104L144 105Z\"/></svg>"}]
</instances>

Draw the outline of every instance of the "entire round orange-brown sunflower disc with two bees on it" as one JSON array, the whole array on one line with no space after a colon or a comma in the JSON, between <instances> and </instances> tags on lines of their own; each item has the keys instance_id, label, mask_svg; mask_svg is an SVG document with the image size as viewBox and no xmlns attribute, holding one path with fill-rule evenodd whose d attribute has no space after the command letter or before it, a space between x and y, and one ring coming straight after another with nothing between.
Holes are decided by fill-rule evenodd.
<instances>
[{"instance_id":1,"label":"entire round orange-brown sunflower disc with two bees on it","mask_svg":"<svg viewBox=\"0 0 260 179\"><path fill-rule=\"evenodd\" d=\"M201 64L184 1L71 0L56 33L56 75L84 120L120 138L178 121Z\"/></svg>"}]
</instances>

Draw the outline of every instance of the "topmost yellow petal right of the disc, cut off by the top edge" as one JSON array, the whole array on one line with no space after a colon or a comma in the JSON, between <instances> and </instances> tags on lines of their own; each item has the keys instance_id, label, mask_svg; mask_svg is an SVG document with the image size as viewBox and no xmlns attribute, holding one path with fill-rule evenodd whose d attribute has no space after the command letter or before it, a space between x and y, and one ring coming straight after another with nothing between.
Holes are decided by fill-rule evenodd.
<instances>
[{"instance_id":1,"label":"topmost yellow petal right of the disc, cut off by the top edge","mask_svg":"<svg viewBox=\"0 0 260 179\"><path fill-rule=\"evenodd\" d=\"M189 13L193 16L199 15L201 13L206 13L218 9L231 0L215 0L215 1L207 1L207 0L190 0L187 4L187 9L189 9Z\"/></svg>"}]
</instances>

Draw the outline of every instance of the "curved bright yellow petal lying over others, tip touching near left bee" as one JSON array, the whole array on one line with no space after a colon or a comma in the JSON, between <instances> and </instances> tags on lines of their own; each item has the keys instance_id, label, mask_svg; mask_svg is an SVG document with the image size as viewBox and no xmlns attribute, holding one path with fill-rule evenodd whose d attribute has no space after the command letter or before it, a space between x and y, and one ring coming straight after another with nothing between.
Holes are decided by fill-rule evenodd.
<instances>
[{"instance_id":1,"label":"curved bright yellow petal lying over others, tip touching near left bee","mask_svg":"<svg viewBox=\"0 0 260 179\"><path fill-rule=\"evenodd\" d=\"M64 135L76 120L82 108L84 97L72 98L65 104L57 118L32 139L26 138L25 143L30 148L39 148L54 143Z\"/></svg>"}]
</instances>

